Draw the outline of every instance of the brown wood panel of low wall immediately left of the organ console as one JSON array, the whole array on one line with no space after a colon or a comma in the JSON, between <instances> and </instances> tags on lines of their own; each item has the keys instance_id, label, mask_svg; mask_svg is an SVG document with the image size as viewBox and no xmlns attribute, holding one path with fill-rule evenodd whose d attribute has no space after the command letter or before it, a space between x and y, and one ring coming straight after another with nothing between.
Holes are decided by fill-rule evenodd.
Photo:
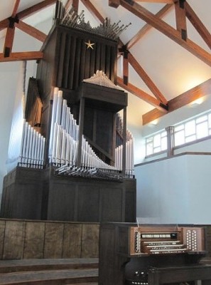
<instances>
[{"instance_id":1,"label":"brown wood panel of low wall immediately left of the organ console","mask_svg":"<svg viewBox=\"0 0 211 285\"><path fill-rule=\"evenodd\" d=\"M99 226L82 224L82 258L99 256Z\"/></svg>"}]
</instances>

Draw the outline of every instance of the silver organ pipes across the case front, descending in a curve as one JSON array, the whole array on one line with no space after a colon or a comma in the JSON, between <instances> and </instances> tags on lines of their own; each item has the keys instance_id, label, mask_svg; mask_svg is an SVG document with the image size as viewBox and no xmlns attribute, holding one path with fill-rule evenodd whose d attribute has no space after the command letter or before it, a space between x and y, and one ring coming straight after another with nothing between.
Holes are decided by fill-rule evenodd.
<instances>
[{"instance_id":1,"label":"silver organ pipes across the case front, descending in a curve","mask_svg":"<svg viewBox=\"0 0 211 285\"><path fill-rule=\"evenodd\" d=\"M122 120L117 115L117 124L119 124L119 132L121 133ZM126 135L126 175L131 176L134 172L133 155L134 138L127 130ZM119 142L115 150L115 165L109 165L97 157L85 136L82 135L81 142L81 161L77 165L77 152L79 145L79 125L73 118L67 101L63 99L63 92L54 89L52 120L50 126L50 142L49 142L49 162L58 166L57 173L59 175L105 175L106 172L113 174L122 170L122 153L123 146ZM77 165L77 167L76 167Z\"/></svg>"}]
</instances>

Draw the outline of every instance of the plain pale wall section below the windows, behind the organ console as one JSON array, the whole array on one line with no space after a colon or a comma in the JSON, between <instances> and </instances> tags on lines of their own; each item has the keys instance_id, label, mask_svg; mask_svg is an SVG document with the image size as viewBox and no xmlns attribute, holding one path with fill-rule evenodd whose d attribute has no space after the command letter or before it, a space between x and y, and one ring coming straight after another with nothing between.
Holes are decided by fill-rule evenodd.
<instances>
[{"instance_id":1,"label":"plain pale wall section below the windows, behind the organ console","mask_svg":"<svg viewBox=\"0 0 211 285\"><path fill-rule=\"evenodd\" d=\"M182 155L136 167L137 217L210 224L211 155Z\"/></svg>"}]
</instances>

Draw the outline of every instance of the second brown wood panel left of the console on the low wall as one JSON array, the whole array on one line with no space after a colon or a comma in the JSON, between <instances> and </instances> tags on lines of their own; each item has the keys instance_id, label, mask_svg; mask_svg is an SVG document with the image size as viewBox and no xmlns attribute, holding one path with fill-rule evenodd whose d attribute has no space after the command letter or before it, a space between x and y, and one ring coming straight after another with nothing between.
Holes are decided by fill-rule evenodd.
<instances>
[{"instance_id":1,"label":"second brown wood panel left of the console on the low wall","mask_svg":"<svg viewBox=\"0 0 211 285\"><path fill-rule=\"evenodd\" d=\"M63 239L63 258L81 257L82 224L65 224Z\"/></svg>"}]
</instances>

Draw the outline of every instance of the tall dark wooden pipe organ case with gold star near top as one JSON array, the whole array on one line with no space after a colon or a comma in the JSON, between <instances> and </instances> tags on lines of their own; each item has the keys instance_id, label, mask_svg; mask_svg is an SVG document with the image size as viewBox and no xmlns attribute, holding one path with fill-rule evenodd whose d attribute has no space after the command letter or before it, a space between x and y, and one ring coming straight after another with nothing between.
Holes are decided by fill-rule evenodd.
<instances>
[{"instance_id":1,"label":"tall dark wooden pipe organ case with gold star near top","mask_svg":"<svg viewBox=\"0 0 211 285\"><path fill-rule=\"evenodd\" d=\"M1 217L134 222L136 180L132 167L126 167L127 93L115 85L117 37L107 36L114 33L111 25L96 32L72 8L64 16L58 4L60 15L41 49L37 76L31 79L39 93L34 101L41 101L37 125L45 137L44 157L38 166L36 160L22 157L6 175ZM120 167L115 165L117 141L122 145ZM88 155L94 161L97 156L97 165L88 162Z\"/></svg>"}]
</instances>

